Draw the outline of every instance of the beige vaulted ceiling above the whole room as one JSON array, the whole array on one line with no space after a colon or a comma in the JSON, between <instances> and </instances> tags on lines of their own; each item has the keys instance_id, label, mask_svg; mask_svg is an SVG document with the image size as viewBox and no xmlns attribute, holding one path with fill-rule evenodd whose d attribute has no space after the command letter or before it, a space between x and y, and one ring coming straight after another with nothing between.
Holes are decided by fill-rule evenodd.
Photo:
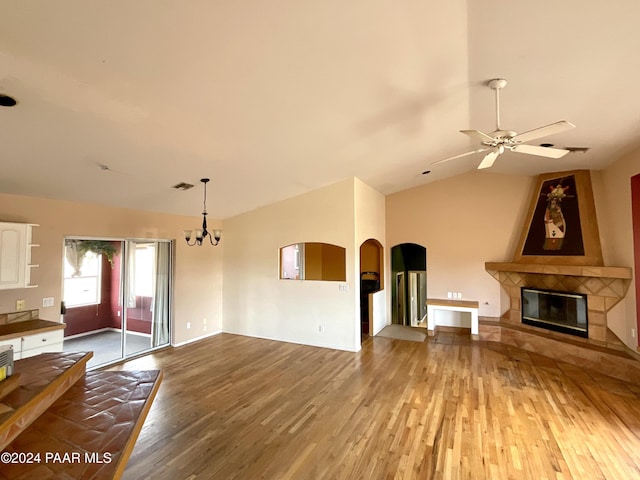
<instances>
[{"instance_id":1,"label":"beige vaulted ceiling above the whole room","mask_svg":"<svg viewBox=\"0 0 640 480\"><path fill-rule=\"evenodd\" d=\"M461 129L577 128L493 172L640 146L640 2L1 0L0 192L227 218L357 176L384 194L476 168ZM422 175L431 170L429 175ZM196 184L183 192L179 182Z\"/></svg>"}]
</instances>

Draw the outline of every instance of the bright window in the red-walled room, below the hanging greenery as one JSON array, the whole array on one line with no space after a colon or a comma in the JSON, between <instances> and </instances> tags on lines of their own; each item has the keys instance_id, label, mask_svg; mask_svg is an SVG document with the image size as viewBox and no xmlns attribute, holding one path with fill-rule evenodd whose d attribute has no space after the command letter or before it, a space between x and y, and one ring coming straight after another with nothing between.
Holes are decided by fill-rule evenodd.
<instances>
[{"instance_id":1,"label":"bright window in the red-walled room, below the hanging greenery","mask_svg":"<svg viewBox=\"0 0 640 480\"><path fill-rule=\"evenodd\" d=\"M102 255L94 252L87 252L83 256L78 270L69 262L68 258L65 258L64 303L66 307L100 303L101 267Z\"/></svg>"}]
</instances>

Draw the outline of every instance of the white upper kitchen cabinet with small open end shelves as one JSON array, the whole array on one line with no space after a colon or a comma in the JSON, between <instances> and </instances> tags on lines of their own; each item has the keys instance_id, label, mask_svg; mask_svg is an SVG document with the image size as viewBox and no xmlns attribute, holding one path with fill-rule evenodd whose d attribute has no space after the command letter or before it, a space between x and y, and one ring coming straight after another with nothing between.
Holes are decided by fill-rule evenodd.
<instances>
[{"instance_id":1,"label":"white upper kitchen cabinet with small open end shelves","mask_svg":"<svg viewBox=\"0 0 640 480\"><path fill-rule=\"evenodd\" d=\"M0 289L35 287L31 284L31 242L33 225L30 223L0 222Z\"/></svg>"}]
</instances>

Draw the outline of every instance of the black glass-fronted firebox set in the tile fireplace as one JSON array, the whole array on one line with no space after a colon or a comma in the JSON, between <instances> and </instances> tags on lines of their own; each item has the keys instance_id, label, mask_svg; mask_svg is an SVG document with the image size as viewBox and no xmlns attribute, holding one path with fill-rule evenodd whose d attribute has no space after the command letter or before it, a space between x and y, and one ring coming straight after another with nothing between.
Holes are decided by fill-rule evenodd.
<instances>
[{"instance_id":1,"label":"black glass-fronted firebox set in the tile fireplace","mask_svg":"<svg viewBox=\"0 0 640 480\"><path fill-rule=\"evenodd\" d=\"M522 323L588 338L587 295L521 288Z\"/></svg>"}]
</instances>

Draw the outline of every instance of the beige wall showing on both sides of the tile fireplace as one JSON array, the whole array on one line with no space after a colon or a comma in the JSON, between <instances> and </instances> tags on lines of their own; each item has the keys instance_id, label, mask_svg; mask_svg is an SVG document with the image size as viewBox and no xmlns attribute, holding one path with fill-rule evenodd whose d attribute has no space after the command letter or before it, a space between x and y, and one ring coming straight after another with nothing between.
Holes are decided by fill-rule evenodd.
<instances>
[{"instance_id":1,"label":"beige wall showing on both sides of the tile fireplace","mask_svg":"<svg viewBox=\"0 0 640 480\"><path fill-rule=\"evenodd\" d=\"M605 265L633 267L630 178L640 173L640 151L592 172ZM498 317L508 298L484 270L486 261L511 261L535 177L473 171L387 197L387 245L427 248L427 293L462 292L480 302L480 315ZM635 348L635 291L608 315L609 328Z\"/></svg>"}]
</instances>

